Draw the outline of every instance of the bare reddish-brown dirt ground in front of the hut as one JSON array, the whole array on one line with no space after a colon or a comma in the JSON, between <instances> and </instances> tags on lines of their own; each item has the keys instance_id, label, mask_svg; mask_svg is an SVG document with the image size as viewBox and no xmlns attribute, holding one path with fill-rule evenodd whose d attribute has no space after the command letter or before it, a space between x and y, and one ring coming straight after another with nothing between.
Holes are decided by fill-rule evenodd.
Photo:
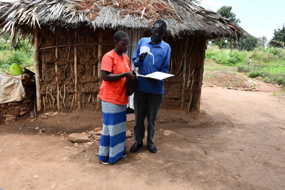
<instances>
[{"instance_id":1,"label":"bare reddish-brown dirt ground in front of the hut","mask_svg":"<svg viewBox=\"0 0 285 190\"><path fill-rule=\"evenodd\" d=\"M257 88L203 87L200 113L163 105L155 132L158 152L150 153L145 142L130 153L132 135L127 157L109 165L96 156L99 142L75 147L67 139L101 127L101 112L48 119L41 114L33 122L0 124L0 189L285 189L285 99L271 96L281 90L273 85L259 82ZM128 122L127 129L133 125Z\"/></svg>"}]
</instances>

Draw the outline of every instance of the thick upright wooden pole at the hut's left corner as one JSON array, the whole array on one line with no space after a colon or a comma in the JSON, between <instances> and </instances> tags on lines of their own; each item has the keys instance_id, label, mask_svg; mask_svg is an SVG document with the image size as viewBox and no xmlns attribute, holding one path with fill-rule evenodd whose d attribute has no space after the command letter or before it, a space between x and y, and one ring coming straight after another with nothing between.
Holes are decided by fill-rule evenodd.
<instances>
[{"instance_id":1,"label":"thick upright wooden pole at the hut's left corner","mask_svg":"<svg viewBox=\"0 0 285 190\"><path fill-rule=\"evenodd\" d=\"M35 44L34 44L34 67L35 67L35 78L36 78L36 94L37 94L37 111L40 112L42 108L41 96L40 96L40 63L39 63L39 27L35 27Z\"/></svg>"}]
</instances>

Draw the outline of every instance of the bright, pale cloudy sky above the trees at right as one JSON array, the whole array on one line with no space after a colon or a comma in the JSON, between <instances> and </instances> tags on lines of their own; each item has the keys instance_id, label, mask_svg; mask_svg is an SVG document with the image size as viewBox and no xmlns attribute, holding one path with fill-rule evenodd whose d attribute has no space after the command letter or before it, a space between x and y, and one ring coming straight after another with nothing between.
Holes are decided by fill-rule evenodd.
<instances>
[{"instance_id":1,"label":"bright, pale cloudy sky above the trees at right","mask_svg":"<svg viewBox=\"0 0 285 190\"><path fill-rule=\"evenodd\" d=\"M260 0L198 0L204 9L217 12L222 6L232 6L232 12L240 19L240 27L255 37L271 40L274 29L282 29L285 23L285 1Z\"/></svg>"}]
</instances>

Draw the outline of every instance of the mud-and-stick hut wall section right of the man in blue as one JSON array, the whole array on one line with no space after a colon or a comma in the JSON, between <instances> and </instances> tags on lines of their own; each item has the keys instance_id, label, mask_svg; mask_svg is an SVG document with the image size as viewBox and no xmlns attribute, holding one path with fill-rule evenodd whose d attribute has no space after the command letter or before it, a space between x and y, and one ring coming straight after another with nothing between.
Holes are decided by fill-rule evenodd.
<instances>
[{"instance_id":1,"label":"mud-and-stick hut wall section right of the man in blue","mask_svg":"<svg viewBox=\"0 0 285 190\"><path fill-rule=\"evenodd\" d=\"M165 81L163 107L199 111L206 40L205 36L168 37L171 47L170 74L175 76Z\"/></svg>"}]
</instances>

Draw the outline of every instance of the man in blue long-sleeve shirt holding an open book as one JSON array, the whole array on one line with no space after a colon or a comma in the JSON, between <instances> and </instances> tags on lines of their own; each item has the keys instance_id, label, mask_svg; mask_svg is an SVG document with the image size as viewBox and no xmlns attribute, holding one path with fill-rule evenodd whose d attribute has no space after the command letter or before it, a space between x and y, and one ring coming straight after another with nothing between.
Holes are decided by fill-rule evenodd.
<instances>
[{"instance_id":1,"label":"man in blue long-sleeve shirt holding an open book","mask_svg":"<svg viewBox=\"0 0 285 190\"><path fill-rule=\"evenodd\" d=\"M135 67L139 68L141 75L147 75L160 71L169 72L170 46L162 41L162 37L166 30L166 23L163 20L156 20L152 27L152 36L142 38L132 58ZM143 52L140 54L141 47L147 46L150 53ZM143 47L142 49L148 49ZM145 117L148 120L148 137L147 145L151 153L156 153L157 148L153 143L155 132L155 121L158 110L163 100L163 83L164 80L147 79L138 77L139 87L134 93L135 108L135 144L131 147L130 152L137 152L143 146L143 138L145 137Z\"/></svg>"}]
</instances>

